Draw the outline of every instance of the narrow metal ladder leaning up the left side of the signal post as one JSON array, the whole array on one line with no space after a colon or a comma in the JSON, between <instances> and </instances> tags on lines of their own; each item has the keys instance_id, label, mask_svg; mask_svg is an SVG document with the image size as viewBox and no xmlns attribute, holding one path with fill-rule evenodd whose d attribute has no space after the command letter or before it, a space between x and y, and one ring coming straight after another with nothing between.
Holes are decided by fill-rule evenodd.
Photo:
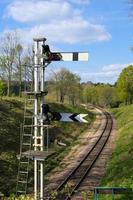
<instances>
[{"instance_id":1,"label":"narrow metal ladder leaning up the left side of the signal post","mask_svg":"<svg viewBox=\"0 0 133 200\"><path fill-rule=\"evenodd\" d=\"M25 195L27 192L30 151L32 148L32 137L33 137L33 121L34 121L33 102L34 99L25 98L24 121L21 127L21 140L20 140L21 143L20 143L16 195L21 195L21 194Z\"/></svg>"}]
</instances>

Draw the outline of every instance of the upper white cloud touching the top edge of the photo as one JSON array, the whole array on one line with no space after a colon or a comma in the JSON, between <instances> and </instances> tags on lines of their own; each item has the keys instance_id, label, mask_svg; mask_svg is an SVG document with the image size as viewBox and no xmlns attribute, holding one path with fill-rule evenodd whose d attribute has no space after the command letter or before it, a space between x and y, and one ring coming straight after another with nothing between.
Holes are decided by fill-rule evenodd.
<instances>
[{"instance_id":1,"label":"upper white cloud touching the top edge of the photo","mask_svg":"<svg viewBox=\"0 0 133 200\"><path fill-rule=\"evenodd\" d=\"M73 9L67 1L61 0L24 0L14 1L7 8L7 16L19 22L45 22L71 18L80 14L80 10ZM57 21L58 23L58 21Z\"/></svg>"}]
</instances>

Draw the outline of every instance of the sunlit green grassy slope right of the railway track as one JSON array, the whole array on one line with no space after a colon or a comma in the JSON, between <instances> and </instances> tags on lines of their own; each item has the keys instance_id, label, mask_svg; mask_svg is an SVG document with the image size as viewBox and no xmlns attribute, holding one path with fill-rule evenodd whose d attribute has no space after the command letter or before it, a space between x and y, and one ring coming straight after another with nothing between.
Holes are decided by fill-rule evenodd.
<instances>
[{"instance_id":1,"label":"sunlit green grassy slope right of the railway track","mask_svg":"<svg viewBox=\"0 0 133 200\"><path fill-rule=\"evenodd\" d=\"M117 122L117 141L101 185L133 188L133 105L111 109L111 112Z\"/></svg>"}]
</instances>

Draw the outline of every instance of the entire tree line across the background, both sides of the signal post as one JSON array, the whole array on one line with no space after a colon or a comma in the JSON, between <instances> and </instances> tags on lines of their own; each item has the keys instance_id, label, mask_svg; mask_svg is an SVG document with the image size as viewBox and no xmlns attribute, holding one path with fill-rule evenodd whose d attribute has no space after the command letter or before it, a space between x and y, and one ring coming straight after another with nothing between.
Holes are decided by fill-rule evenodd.
<instances>
[{"instance_id":1,"label":"entire tree line across the background, both sides of the signal post","mask_svg":"<svg viewBox=\"0 0 133 200\"><path fill-rule=\"evenodd\" d=\"M33 85L32 47L24 51L16 32L5 33L0 42L0 95L19 95ZM133 66L123 69L114 85L80 83L80 76L68 69L51 71L47 80L49 96L57 102L91 103L117 107L133 103Z\"/></svg>"}]
</instances>

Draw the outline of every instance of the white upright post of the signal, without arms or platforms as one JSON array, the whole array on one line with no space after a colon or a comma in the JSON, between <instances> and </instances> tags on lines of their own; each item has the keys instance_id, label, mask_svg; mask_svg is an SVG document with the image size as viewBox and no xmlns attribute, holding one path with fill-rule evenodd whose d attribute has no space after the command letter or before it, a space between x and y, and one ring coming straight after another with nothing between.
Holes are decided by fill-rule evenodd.
<instances>
[{"instance_id":1,"label":"white upright post of the signal, without arms or platforms","mask_svg":"<svg viewBox=\"0 0 133 200\"><path fill-rule=\"evenodd\" d=\"M35 38L34 39L34 92L38 93L44 92L44 70L45 63L40 62L38 57L42 54L42 45L45 44L45 38ZM40 73L41 72L41 73ZM41 83L39 85L39 75L41 76ZM43 135L43 119L40 119L40 128L38 127L38 108L40 107L40 113L42 113L42 105L45 102L44 95L40 96L41 105L39 105L38 95L35 95L34 104L34 151L44 151L44 135ZM40 131L40 133L38 132ZM39 141L39 143L38 143ZM38 200L38 194L40 194L39 199L43 199L43 160L34 157L34 199ZM38 177L38 172L40 172L40 177ZM40 182L40 183L39 183ZM38 191L39 190L39 191Z\"/></svg>"}]
</instances>

